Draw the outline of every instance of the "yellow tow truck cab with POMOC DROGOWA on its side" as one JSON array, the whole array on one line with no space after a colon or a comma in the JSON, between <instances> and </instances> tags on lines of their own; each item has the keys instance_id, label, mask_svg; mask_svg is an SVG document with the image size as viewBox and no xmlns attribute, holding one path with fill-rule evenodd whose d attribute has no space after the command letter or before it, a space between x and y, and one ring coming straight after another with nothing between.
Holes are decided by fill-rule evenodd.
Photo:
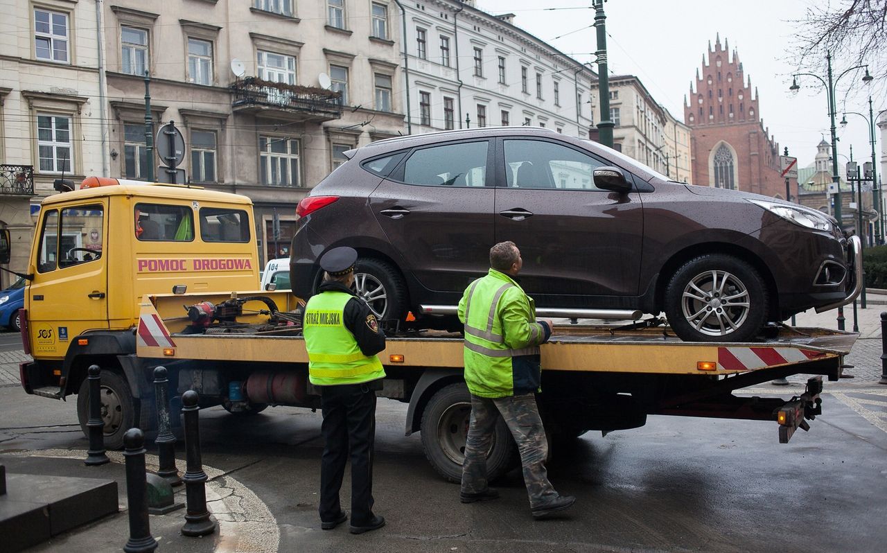
<instances>
[{"instance_id":1,"label":"yellow tow truck cab with POMOC DROGOWA on its side","mask_svg":"<svg viewBox=\"0 0 887 553\"><path fill-rule=\"evenodd\" d=\"M255 290L254 223L247 197L192 186L90 177L44 200L22 317L26 391L63 398L85 376L78 358L134 353L149 294Z\"/></svg>"}]
</instances>

